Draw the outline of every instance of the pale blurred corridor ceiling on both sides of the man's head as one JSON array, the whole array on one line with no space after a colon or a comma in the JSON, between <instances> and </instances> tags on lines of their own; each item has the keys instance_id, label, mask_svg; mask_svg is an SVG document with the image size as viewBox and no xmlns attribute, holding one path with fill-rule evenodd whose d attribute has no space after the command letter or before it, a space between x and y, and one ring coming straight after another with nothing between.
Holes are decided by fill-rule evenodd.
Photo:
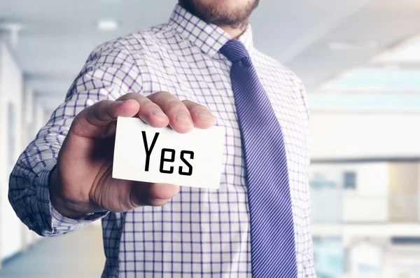
<instances>
[{"instance_id":1,"label":"pale blurred corridor ceiling on both sides of the man's head","mask_svg":"<svg viewBox=\"0 0 420 278\"><path fill-rule=\"evenodd\" d=\"M0 0L0 25L23 25L13 55L45 109L62 102L99 43L166 22L176 0ZM346 69L420 34L419 0L261 0L255 46L295 71L309 93ZM115 19L116 31L97 29ZM10 41L1 32L0 39ZM381 67L381 64L374 64Z\"/></svg>"}]
</instances>

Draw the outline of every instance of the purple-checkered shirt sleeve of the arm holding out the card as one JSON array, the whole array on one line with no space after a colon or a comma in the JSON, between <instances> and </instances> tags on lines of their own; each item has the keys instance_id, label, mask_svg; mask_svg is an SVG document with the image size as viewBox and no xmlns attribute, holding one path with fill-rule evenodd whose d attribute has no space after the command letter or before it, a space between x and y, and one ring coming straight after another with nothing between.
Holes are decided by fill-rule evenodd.
<instances>
[{"instance_id":1,"label":"purple-checkered shirt sleeve of the arm holding out the card","mask_svg":"<svg viewBox=\"0 0 420 278\"><path fill-rule=\"evenodd\" d=\"M141 92L141 74L134 58L118 40L98 46L65 101L20 155L10 174L8 198L21 221L38 235L62 235L106 215L74 220L59 214L50 202L50 173L76 115L102 99L114 100L127 92Z\"/></svg>"}]
</instances>

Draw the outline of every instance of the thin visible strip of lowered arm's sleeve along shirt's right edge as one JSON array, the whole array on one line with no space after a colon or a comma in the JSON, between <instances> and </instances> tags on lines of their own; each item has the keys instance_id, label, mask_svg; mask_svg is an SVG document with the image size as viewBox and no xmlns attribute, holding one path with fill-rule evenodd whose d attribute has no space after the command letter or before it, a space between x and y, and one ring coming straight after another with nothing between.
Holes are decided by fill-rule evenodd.
<instances>
[{"instance_id":1,"label":"thin visible strip of lowered arm's sleeve along shirt's right edge","mask_svg":"<svg viewBox=\"0 0 420 278\"><path fill-rule=\"evenodd\" d=\"M306 124L304 126L304 132L306 134L306 141L307 141L307 169L305 175L305 183L307 184L307 194L305 195L304 203L306 206L304 207L304 221L302 225L303 229L303 254L302 254L302 264L303 264L303 271L304 277L307 278L316 278L316 271L315 271L315 263L314 263L314 245L312 241L312 232L311 232L311 196L310 196L310 188L309 188L309 165L311 164L311 141L309 137L309 109L307 108L307 97L306 97L306 90L304 89L304 85L302 81L297 78L297 87L299 88L300 94L302 96L303 102L307 109L307 120L305 121Z\"/></svg>"}]
</instances>

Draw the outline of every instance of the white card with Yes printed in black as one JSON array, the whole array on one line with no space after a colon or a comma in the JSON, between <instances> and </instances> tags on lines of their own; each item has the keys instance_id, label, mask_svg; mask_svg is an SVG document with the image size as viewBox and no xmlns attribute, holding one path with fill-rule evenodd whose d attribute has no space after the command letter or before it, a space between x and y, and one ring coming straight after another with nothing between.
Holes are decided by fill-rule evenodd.
<instances>
[{"instance_id":1,"label":"white card with Yes printed in black","mask_svg":"<svg viewBox=\"0 0 420 278\"><path fill-rule=\"evenodd\" d=\"M225 130L194 128L179 134L139 118L119 117L113 178L178 186L219 188Z\"/></svg>"}]
</instances>

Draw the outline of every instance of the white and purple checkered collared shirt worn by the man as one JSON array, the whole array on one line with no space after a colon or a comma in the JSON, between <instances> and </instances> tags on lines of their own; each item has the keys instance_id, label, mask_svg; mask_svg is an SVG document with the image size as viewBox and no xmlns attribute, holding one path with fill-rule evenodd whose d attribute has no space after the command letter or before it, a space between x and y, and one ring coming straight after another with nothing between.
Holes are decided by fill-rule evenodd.
<instances>
[{"instance_id":1,"label":"white and purple checkered collared shirt worn by the man","mask_svg":"<svg viewBox=\"0 0 420 278\"><path fill-rule=\"evenodd\" d=\"M230 83L232 63L218 50L230 38L177 5L167 24L97 47L47 125L10 176L10 202L29 228L62 235L102 218L102 277L251 277L244 159ZM309 126L301 81L253 47L251 27L239 38L250 53L281 127L288 160L298 277L316 277L309 203ZM171 92L207 106L225 127L221 188L181 188L164 207L93 214L86 221L51 206L48 176L71 121L85 107L127 92Z\"/></svg>"}]
</instances>

